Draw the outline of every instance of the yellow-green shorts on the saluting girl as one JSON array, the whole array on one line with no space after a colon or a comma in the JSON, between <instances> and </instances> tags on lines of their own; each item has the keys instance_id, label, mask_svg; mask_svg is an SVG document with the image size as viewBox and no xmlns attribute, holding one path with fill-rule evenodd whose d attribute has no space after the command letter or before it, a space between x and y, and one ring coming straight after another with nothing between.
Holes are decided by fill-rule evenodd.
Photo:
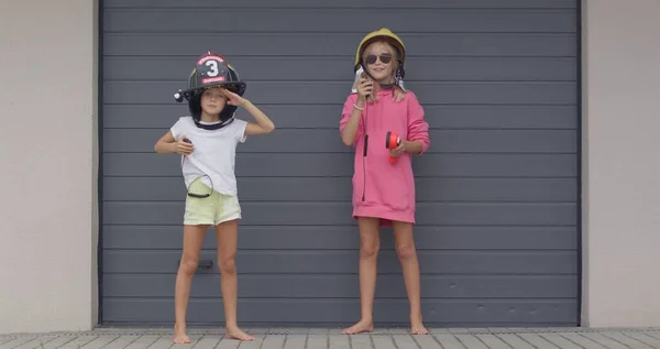
<instances>
[{"instance_id":1,"label":"yellow-green shorts on the saluting girl","mask_svg":"<svg viewBox=\"0 0 660 349\"><path fill-rule=\"evenodd\" d=\"M190 193L206 194L211 190L201 181L190 184ZM241 219L241 205L235 195L223 195L216 190L209 197L190 197L186 195L184 225L211 225Z\"/></svg>"}]
</instances>

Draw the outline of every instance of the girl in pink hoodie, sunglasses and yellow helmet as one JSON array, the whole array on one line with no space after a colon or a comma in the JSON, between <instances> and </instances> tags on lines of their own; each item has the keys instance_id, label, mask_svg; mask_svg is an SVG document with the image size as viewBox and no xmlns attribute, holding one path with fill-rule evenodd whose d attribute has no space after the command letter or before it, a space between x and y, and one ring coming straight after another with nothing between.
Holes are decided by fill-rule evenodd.
<instances>
[{"instance_id":1,"label":"girl in pink hoodie, sunglasses and yellow helmet","mask_svg":"<svg viewBox=\"0 0 660 349\"><path fill-rule=\"evenodd\" d=\"M402 100L395 90L404 77L405 46L387 29L367 34L355 55L366 77L349 95L340 132L344 144L355 148L353 218L360 229L360 295L362 318L345 328L352 335L373 330L373 298L380 227L392 226L410 302L410 326L415 335L428 334L421 319L419 263L413 239L415 178L413 156L430 145L428 123L417 96L407 90ZM400 144L386 148L388 132ZM393 157L394 162L389 161Z\"/></svg>"}]
</instances>

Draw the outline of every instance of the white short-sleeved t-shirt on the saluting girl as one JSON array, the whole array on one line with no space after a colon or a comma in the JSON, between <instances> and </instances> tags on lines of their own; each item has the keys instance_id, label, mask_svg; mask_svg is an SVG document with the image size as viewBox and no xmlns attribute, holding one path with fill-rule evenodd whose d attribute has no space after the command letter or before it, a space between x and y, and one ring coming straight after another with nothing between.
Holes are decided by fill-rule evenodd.
<instances>
[{"instance_id":1,"label":"white short-sleeved t-shirt on the saluting girl","mask_svg":"<svg viewBox=\"0 0 660 349\"><path fill-rule=\"evenodd\" d=\"M208 123L208 122L201 122ZM193 117L182 117L170 128L175 140L185 135L193 142L193 153L183 159L183 175L186 187L194 179L202 177L202 183L224 195L237 195L237 177L234 174L237 145L245 142L244 120L235 119L218 130L198 128Z\"/></svg>"}]
</instances>

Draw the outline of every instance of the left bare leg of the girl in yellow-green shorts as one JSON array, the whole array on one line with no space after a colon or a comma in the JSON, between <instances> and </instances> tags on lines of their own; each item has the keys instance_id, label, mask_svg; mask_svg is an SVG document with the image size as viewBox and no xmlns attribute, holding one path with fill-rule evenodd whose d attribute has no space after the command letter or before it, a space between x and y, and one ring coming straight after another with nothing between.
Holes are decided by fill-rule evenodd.
<instances>
[{"instance_id":1,"label":"left bare leg of the girl in yellow-green shorts","mask_svg":"<svg viewBox=\"0 0 660 349\"><path fill-rule=\"evenodd\" d=\"M184 251L176 274L175 290L175 325L174 342L188 343L190 338L186 335L186 313L190 296L190 283L199 264L199 251L204 237L209 226L184 226Z\"/></svg>"}]
</instances>

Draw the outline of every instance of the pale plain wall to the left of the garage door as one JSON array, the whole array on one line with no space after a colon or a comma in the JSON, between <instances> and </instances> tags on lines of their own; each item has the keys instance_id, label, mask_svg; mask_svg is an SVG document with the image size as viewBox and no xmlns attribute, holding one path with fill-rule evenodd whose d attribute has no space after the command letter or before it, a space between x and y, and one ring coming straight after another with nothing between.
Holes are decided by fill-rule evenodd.
<instances>
[{"instance_id":1,"label":"pale plain wall to the left of the garage door","mask_svg":"<svg viewBox=\"0 0 660 349\"><path fill-rule=\"evenodd\" d=\"M2 1L0 332L96 324L96 2Z\"/></svg>"}]
</instances>

